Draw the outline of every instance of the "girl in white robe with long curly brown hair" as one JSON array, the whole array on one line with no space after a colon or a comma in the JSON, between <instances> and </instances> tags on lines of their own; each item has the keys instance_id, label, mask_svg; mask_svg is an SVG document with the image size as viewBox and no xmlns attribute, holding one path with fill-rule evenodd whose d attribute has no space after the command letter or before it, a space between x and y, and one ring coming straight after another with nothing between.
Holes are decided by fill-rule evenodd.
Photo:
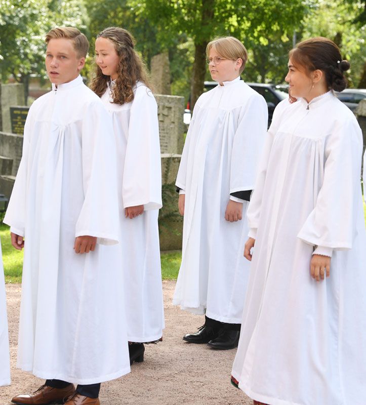
<instances>
[{"instance_id":1,"label":"girl in white robe with long curly brown hair","mask_svg":"<svg viewBox=\"0 0 366 405\"><path fill-rule=\"evenodd\" d=\"M157 104L146 69L125 29L109 27L95 42L91 89L113 119L117 143L120 239L130 362L143 361L144 343L164 329L157 217L161 164ZM122 286L121 286L122 288Z\"/></svg>"}]
</instances>

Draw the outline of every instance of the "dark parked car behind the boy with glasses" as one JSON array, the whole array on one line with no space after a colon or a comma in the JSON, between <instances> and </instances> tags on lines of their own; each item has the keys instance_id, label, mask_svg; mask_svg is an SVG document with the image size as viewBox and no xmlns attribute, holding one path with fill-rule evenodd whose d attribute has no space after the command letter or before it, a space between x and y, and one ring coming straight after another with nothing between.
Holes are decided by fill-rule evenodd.
<instances>
[{"instance_id":1,"label":"dark parked car behind the boy with glasses","mask_svg":"<svg viewBox=\"0 0 366 405\"><path fill-rule=\"evenodd\" d=\"M205 82L205 91L211 90L216 87L217 82ZM272 115L276 105L283 99L289 97L288 93L282 89L278 89L276 85L262 84L262 83L247 83L252 89L261 94L267 102L268 106L268 127L272 121ZM187 106L188 107L188 106ZM186 109L184 113L184 123L189 124L190 110Z\"/></svg>"}]
</instances>

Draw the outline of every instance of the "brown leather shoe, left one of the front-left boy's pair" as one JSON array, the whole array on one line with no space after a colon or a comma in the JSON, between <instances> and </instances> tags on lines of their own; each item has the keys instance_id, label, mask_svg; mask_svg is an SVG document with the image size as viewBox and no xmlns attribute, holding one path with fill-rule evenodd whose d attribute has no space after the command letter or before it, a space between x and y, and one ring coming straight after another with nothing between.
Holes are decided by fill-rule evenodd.
<instances>
[{"instance_id":1,"label":"brown leather shoe, left one of the front-left boy's pair","mask_svg":"<svg viewBox=\"0 0 366 405\"><path fill-rule=\"evenodd\" d=\"M43 385L32 394L15 396L12 399L12 402L18 405L47 405L54 402L62 403L65 396L70 396L73 392L75 392L73 384L70 384L65 388L52 388L48 385Z\"/></svg>"}]
</instances>

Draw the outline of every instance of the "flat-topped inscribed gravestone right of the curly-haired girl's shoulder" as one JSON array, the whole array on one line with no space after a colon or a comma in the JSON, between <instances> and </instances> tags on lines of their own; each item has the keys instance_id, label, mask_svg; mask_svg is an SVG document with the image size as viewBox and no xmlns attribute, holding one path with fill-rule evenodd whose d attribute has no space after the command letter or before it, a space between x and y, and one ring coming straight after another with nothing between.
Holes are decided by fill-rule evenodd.
<instances>
[{"instance_id":1,"label":"flat-topped inscribed gravestone right of the curly-haired girl's shoulder","mask_svg":"<svg viewBox=\"0 0 366 405\"><path fill-rule=\"evenodd\" d=\"M184 97L155 95L161 153L181 154L184 145Z\"/></svg>"}]
</instances>

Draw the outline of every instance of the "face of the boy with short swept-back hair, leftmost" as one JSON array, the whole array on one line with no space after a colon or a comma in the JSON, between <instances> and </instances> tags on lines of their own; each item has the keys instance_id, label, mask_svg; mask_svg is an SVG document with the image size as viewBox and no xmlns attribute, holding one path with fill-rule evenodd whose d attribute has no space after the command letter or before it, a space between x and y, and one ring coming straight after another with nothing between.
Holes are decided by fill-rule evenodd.
<instances>
[{"instance_id":1,"label":"face of the boy with short swept-back hair, leftmost","mask_svg":"<svg viewBox=\"0 0 366 405\"><path fill-rule=\"evenodd\" d=\"M51 39L47 44L46 70L51 83L62 85L75 79L85 65L78 57L71 39Z\"/></svg>"}]
</instances>

